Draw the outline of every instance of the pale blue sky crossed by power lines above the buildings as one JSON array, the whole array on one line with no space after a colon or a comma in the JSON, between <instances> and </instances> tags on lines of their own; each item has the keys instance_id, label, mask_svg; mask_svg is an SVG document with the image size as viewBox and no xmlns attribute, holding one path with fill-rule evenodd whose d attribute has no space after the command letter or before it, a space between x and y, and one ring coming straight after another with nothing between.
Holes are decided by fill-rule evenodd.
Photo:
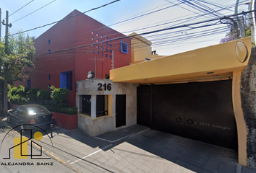
<instances>
[{"instance_id":1,"label":"pale blue sky crossed by power lines above the buildings","mask_svg":"<svg viewBox=\"0 0 256 173\"><path fill-rule=\"evenodd\" d=\"M30 30L51 22L56 22L63 19L74 9L80 12L86 12L89 9L108 4L111 1L114 0L0 0L1 19L5 18L6 11L8 10L9 23L12 23L9 32L14 34L20 30ZM187 4L182 4L179 0L121 0L85 14L124 35L129 35L134 31L141 34L143 32L161 30L163 28L187 25L206 19L222 17L221 15L234 14L234 4L236 3L236 0L206 1L216 4L216 6L213 6L204 3L202 0L190 1L194 4L197 2L204 5L205 9L210 7L211 9L221 11L219 11L218 15L216 13L216 16L206 14L202 17L196 17L207 12L200 12L198 7L194 9ZM25 4L27 4L27 6L25 6ZM22 6L25 7L20 9ZM197 6L199 5L197 4ZM230 6L229 9L223 9L226 6ZM18 9L20 10L16 12ZM239 6L239 12L247 11L247 9L248 6L244 3ZM35 10L38 11L34 12ZM155 12L156 10L158 10L158 12ZM202 11L202 9L200 10ZM32 12L33 14L30 14ZM138 17L143 14L144 16ZM27 17L25 17L26 15ZM136 18L131 19L134 17ZM123 22L124 20L127 20L127 22ZM114 25L117 22L121 23ZM193 27L182 27L176 30L166 30L164 32L143 35L143 37L146 37L153 43L153 50L156 50L158 55L173 55L220 43L221 38L226 36L229 29L226 24L220 25L219 22L216 22L218 21L216 20L215 22L208 22L202 25L193 25ZM206 27L205 25L211 26ZM26 33L30 36L38 37L52 26L54 25L31 30ZM5 26L1 25L1 36L3 37L4 34Z\"/></svg>"}]
</instances>

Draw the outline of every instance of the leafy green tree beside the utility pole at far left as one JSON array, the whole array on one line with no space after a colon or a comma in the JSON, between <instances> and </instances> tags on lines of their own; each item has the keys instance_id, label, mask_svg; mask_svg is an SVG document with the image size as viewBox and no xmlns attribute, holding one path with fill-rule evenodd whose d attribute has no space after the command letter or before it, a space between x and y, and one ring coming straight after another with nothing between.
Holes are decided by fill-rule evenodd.
<instances>
[{"instance_id":1,"label":"leafy green tree beside the utility pole at far left","mask_svg":"<svg viewBox=\"0 0 256 173\"><path fill-rule=\"evenodd\" d=\"M7 40L0 40L0 92L1 107L4 104L4 85L22 81L29 76L27 68L33 68L35 48L33 40L28 35L20 33L17 37L8 35ZM5 91L7 92L7 91Z\"/></svg>"}]
</instances>

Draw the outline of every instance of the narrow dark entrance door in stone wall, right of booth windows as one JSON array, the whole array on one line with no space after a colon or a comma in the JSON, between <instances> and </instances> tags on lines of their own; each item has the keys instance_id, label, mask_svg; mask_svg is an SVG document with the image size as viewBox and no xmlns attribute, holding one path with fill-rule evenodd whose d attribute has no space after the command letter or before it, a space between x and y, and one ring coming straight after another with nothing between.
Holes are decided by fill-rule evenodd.
<instances>
[{"instance_id":1,"label":"narrow dark entrance door in stone wall, right of booth windows","mask_svg":"<svg viewBox=\"0 0 256 173\"><path fill-rule=\"evenodd\" d=\"M126 95L116 94L116 128L126 125Z\"/></svg>"}]
</instances>

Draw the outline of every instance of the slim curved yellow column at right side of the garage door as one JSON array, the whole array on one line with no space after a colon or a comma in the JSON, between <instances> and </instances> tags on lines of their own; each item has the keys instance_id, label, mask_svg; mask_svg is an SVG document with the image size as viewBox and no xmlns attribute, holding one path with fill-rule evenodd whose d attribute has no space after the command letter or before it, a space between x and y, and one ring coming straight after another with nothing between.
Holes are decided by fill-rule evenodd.
<instances>
[{"instance_id":1,"label":"slim curved yellow column at right side of the garage door","mask_svg":"<svg viewBox=\"0 0 256 173\"><path fill-rule=\"evenodd\" d=\"M247 127L241 102L241 73L242 71L233 73L232 100L237 127L238 163L247 166Z\"/></svg>"}]
</instances>

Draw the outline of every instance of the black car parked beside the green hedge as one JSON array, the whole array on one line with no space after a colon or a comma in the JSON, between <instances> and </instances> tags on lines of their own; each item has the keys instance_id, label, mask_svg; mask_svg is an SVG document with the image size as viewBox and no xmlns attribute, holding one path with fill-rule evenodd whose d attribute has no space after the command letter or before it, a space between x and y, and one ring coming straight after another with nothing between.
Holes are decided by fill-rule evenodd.
<instances>
[{"instance_id":1,"label":"black car parked beside the green hedge","mask_svg":"<svg viewBox=\"0 0 256 173\"><path fill-rule=\"evenodd\" d=\"M22 105L9 111L7 122L21 125L20 129L44 130L54 124L54 115L41 105Z\"/></svg>"}]
</instances>

